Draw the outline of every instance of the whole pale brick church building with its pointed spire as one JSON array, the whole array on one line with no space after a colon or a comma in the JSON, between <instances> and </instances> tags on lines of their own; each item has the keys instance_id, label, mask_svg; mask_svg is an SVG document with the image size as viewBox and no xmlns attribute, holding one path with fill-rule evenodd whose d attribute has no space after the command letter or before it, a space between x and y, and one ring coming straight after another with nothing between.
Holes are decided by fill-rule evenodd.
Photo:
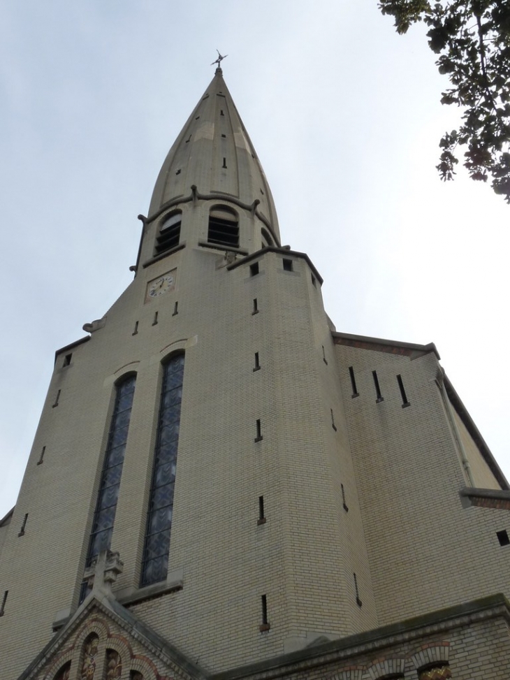
<instances>
[{"instance_id":1,"label":"whole pale brick church building with its pointed spire","mask_svg":"<svg viewBox=\"0 0 510 680\"><path fill-rule=\"evenodd\" d=\"M3 677L507 679L507 480L434 345L336 331L221 68L139 217L0 522Z\"/></svg>"}]
</instances>

